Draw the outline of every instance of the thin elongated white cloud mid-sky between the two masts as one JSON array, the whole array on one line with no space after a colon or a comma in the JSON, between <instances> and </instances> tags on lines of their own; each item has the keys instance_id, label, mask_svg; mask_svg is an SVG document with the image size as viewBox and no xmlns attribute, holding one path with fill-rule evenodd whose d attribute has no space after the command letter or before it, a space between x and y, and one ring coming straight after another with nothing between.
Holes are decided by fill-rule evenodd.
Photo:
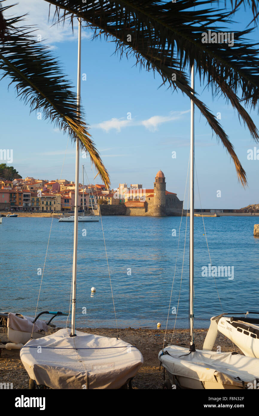
<instances>
[{"instance_id":1,"label":"thin elongated white cloud mid-sky between the two masts","mask_svg":"<svg viewBox=\"0 0 259 416\"><path fill-rule=\"evenodd\" d=\"M168 121L174 121L181 118L181 116L185 113L189 113L190 110L186 111L171 111L169 116L152 116L149 119L142 120L142 121L136 121L134 119L126 120L126 119L116 119L113 118L111 120L102 121L98 124L93 124L91 128L96 129L103 129L106 131L106 133L109 130L115 129L117 131L121 131L121 128L123 127L129 127L129 126L144 126L146 129L150 131L156 131L158 130L158 126L163 123L167 123Z\"/></svg>"}]
</instances>

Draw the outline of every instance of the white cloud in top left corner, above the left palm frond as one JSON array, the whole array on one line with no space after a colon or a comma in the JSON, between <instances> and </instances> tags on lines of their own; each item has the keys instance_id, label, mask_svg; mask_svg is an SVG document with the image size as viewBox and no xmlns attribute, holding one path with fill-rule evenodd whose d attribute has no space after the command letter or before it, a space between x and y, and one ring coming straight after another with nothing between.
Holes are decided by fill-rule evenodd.
<instances>
[{"instance_id":1,"label":"white cloud in top left corner, above the left palm frond","mask_svg":"<svg viewBox=\"0 0 259 416\"><path fill-rule=\"evenodd\" d=\"M13 5L14 0L6 0L5 5ZM62 24L52 25L52 17L54 16L55 7L51 5L50 15L49 15L49 3L44 0L21 0L17 5L10 7L5 11L5 16L10 15L25 15L24 21L20 25L33 25L37 26L35 28L34 35L41 35L42 41L51 47L51 49L56 49L55 46L59 42L67 41L77 41L78 29L77 29L77 20L74 19L74 35L72 32L72 27L69 25L70 19L67 19ZM48 18L50 19L48 21ZM34 30L34 29L32 29ZM91 32L85 32L82 30L82 39L91 37Z\"/></svg>"}]
</instances>

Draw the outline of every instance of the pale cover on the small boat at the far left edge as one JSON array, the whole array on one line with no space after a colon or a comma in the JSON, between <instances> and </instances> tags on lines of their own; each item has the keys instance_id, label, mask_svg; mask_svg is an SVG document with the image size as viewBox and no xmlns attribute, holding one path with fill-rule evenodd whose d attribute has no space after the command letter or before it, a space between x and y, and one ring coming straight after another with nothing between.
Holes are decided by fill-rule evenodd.
<instances>
[{"instance_id":1,"label":"pale cover on the small boat at the far left edge","mask_svg":"<svg viewBox=\"0 0 259 416\"><path fill-rule=\"evenodd\" d=\"M7 328L12 328L15 331L32 332L34 318L25 315L16 315L10 312L7 318ZM46 322L37 319L34 324L33 332L48 332Z\"/></svg>"}]
</instances>

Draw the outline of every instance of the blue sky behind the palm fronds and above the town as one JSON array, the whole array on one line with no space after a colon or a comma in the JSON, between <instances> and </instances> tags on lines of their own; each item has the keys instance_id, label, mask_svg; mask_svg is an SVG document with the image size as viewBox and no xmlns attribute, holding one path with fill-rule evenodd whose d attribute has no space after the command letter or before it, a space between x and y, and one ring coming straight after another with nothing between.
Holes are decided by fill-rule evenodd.
<instances>
[{"instance_id":1,"label":"blue sky behind the palm fronds and above the town","mask_svg":"<svg viewBox=\"0 0 259 416\"><path fill-rule=\"evenodd\" d=\"M8 0L9 4L12 1ZM76 87L77 31L74 36L69 26L51 27L48 23L48 4L43 0L22 0L13 12L29 12L29 23L39 26L38 34L47 39L53 53L59 57L64 73ZM251 20L251 12L241 9L236 15L234 28L244 29ZM111 177L111 187L119 182L143 183L152 188L159 169L165 173L167 190L184 197L187 165L190 151L190 101L182 93L173 94L161 87L160 76L139 70L136 60L113 54L115 45L105 40L91 41L91 32L82 37L81 100L86 122ZM258 39L258 30L250 37ZM205 119L195 111L195 163L202 208L241 208L258 203L257 160L247 160L247 150L256 144L249 131L239 123L237 113L224 99L212 100L210 91L203 91L196 78L196 90L201 99L216 115L221 113L221 124L234 144L245 171L248 187L237 180L234 164L221 144L212 136ZM22 177L74 180L74 145L67 136L56 131L50 122L38 120L37 114L16 98L15 89L8 80L0 84L1 149L13 149L12 165ZM131 120L127 114L131 113ZM259 116L250 113L258 126ZM257 146L259 149L259 146ZM176 158L172 158L176 151ZM96 175L89 159L85 164L90 181ZM80 178L81 179L81 178ZM100 182L97 179L97 182ZM221 197L217 197L217 191ZM195 208L200 208L195 192Z\"/></svg>"}]
</instances>

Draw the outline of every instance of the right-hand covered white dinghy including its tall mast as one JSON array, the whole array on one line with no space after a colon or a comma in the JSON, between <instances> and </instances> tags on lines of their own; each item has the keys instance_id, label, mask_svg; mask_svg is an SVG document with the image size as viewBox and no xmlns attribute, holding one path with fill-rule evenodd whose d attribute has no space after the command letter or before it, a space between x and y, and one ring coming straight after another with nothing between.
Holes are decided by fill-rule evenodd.
<instances>
[{"instance_id":1,"label":"right-hand covered white dinghy including its tall mast","mask_svg":"<svg viewBox=\"0 0 259 416\"><path fill-rule=\"evenodd\" d=\"M194 66L191 72L194 89ZM231 352L195 349L194 343L194 103L191 101L190 144L190 349L178 345L163 348L160 363L172 385L183 389L247 389L259 379L259 359Z\"/></svg>"}]
</instances>

